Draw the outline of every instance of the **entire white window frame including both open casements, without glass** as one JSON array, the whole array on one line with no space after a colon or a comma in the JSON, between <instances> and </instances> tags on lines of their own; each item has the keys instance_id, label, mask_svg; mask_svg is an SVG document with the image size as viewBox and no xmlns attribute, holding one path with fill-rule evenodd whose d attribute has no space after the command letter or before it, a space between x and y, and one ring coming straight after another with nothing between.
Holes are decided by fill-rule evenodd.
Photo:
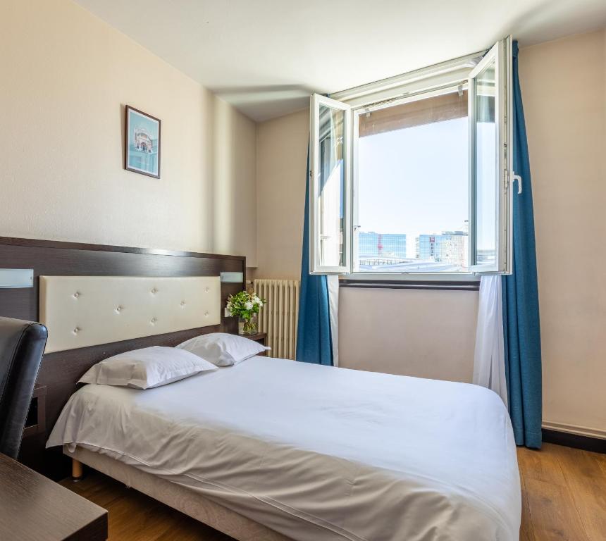
<instances>
[{"instance_id":1,"label":"entire white window frame including both open casements, without glass","mask_svg":"<svg viewBox=\"0 0 606 541\"><path fill-rule=\"evenodd\" d=\"M452 61L443 62L416 70L397 77L363 85L336 94L331 97L323 97L319 94L311 96L311 115L310 115L310 201L309 201L309 272L311 274L342 274L347 275L352 280L406 280L406 281L470 281L479 280L481 274L508 274L512 268L512 193L509 189L513 178L512 171L512 152L510 151L512 143L512 122L509 115L512 111L512 92L511 92L511 58L512 38L511 36L497 42L488 52L482 51L477 54L471 54L462 58L456 58ZM473 91L472 76L481 73L483 67L491 60L495 60L497 69L496 77L499 81L505 81L505 91L497 83L499 90L498 102L495 106L499 115L495 118L498 122L499 132L499 179L500 185L497 189L499 194L499 223L501 225L498 235L497 265L494 268L486 266L475 266L476 246L475 246L475 160L474 139L470 133L470 204L469 204L469 272L444 272L444 273L423 273L423 272L398 272L398 273L366 273L354 272L353 265L356 261L355 251L357 242L354 239L358 230L357 205L354 204L355 193L357 192L357 141L358 141L358 123L354 121L360 114L364 114L367 109L370 111L378 108L384 108L395 104L406 103L407 101L416 101L439 95L447 89L453 87L462 87L467 89L469 96L469 125L470 130L474 127L471 111ZM317 250L317 240L319 239L319 224L316 221L316 214L319 207L317 197L319 190L319 104L345 111L344 126L344 161L345 161L345 216L344 216L344 265L338 267L321 266L319 263L319 250ZM475 107L474 107L475 109ZM495 111L496 113L496 111Z\"/></svg>"}]
</instances>

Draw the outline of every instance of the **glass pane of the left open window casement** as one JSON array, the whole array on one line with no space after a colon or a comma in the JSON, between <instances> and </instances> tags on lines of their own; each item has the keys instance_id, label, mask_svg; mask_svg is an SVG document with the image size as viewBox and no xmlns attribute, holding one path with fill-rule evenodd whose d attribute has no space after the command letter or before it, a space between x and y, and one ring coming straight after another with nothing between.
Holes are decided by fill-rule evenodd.
<instances>
[{"instance_id":1,"label":"glass pane of the left open window casement","mask_svg":"<svg viewBox=\"0 0 606 541\"><path fill-rule=\"evenodd\" d=\"M345 168L345 111L320 105L319 258L321 266L342 266Z\"/></svg>"}]
</instances>

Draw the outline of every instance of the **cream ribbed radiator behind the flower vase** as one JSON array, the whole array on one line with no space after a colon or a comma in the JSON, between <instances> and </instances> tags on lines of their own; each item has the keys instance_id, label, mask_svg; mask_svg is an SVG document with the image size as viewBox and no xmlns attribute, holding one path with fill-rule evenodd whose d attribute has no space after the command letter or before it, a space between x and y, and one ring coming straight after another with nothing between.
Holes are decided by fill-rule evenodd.
<instances>
[{"instance_id":1,"label":"cream ribbed radiator behind the flower vase","mask_svg":"<svg viewBox=\"0 0 606 541\"><path fill-rule=\"evenodd\" d=\"M259 332L267 332L268 355L295 359L299 280L254 280L254 292L267 301L259 312Z\"/></svg>"}]
</instances>

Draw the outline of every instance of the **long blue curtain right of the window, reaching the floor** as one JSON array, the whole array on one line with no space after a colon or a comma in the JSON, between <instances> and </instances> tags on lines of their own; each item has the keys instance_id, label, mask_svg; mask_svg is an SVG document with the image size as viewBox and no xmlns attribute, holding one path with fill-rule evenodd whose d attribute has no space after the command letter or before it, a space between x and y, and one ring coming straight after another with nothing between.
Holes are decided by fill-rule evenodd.
<instances>
[{"instance_id":1,"label":"long blue curtain right of the window, reaching the floor","mask_svg":"<svg viewBox=\"0 0 606 541\"><path fill-rule=\"evenodd\" d=\"M513 196L513 273L502 279L505 377L516 444L538 449L542 439L540 325L531 173L517 42L513 44L513 56L513 165L522 178L523 189Z\"/></svg>"}]
</instances>

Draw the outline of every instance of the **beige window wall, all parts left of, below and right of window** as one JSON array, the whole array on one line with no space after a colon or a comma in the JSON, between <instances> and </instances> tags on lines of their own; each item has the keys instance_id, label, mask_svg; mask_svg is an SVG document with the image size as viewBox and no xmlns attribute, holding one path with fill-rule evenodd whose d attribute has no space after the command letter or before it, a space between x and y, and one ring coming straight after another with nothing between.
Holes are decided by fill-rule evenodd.
<instances>
[{"instance_id":1,"label":"beige window wall, all parts left of, below and right of window","mask_svg":"<svg viewBox=\"0 0 606 541\"><path fill-rule=\"evenodd\" d=\"M544 420L606 435L606 30L522 49L519 66ZM307 111L259 125L259 278L299 275L308 133ZM276 204L284 210L271 211ZM340 292L341 366L471 381L477 293Z\"/></svg>"}]
</instances>

